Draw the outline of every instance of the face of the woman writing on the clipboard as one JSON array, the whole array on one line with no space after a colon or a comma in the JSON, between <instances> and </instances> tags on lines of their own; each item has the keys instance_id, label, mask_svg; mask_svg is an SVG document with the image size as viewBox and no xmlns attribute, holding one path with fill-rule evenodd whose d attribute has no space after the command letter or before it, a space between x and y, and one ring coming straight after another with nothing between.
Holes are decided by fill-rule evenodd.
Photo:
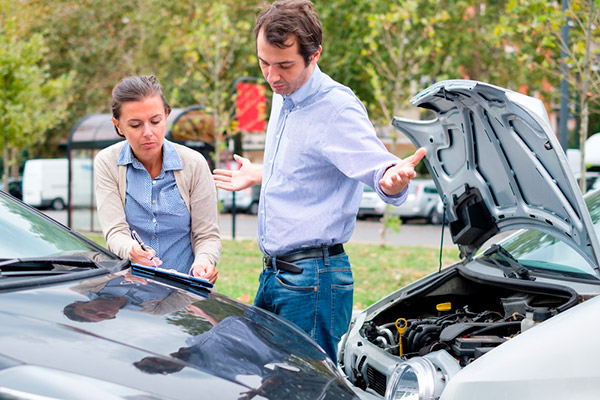
<instances>
[{"instance_id":1,"label":"face of the woman writing on the clipboard","mask_svg":"<svg viewBox=\"0 0 600 400\"><path fill-rule=\"evenodd\" d=\"M162 156L167 113L160 96L121 105L121 117L113 123L121 132L138 160L152 161Z\"/></svg>"}]
</instances>

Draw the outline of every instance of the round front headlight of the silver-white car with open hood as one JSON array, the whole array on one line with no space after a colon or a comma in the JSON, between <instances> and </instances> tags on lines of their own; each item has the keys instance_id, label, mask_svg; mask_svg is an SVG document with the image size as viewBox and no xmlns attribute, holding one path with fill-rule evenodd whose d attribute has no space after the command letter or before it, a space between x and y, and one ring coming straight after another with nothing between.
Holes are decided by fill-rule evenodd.
<instances>
[{"instance_id":1,"label":"round front headlight of the silver-white car with open hood","mask_svg":"<svg viewBox=\"0 0 600 400\"><path fill-rule=\"evenodd\" d=\"M443 350L426 357L415 357L396 367L388 381L385 400L431 400L442 394L446 382L460 366Z\"/></svg>"}]
</instances>

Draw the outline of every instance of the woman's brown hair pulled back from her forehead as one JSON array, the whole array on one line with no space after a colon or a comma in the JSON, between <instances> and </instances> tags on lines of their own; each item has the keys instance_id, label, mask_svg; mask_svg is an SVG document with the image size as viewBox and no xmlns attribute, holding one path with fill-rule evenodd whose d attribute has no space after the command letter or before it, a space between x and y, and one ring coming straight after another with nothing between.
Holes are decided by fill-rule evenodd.
<instances>
[{"instance_id":1,"label":"woman's brown hair pulled back from her forehead","mask_svg":"<svg viewBox=\"0 0 600 400\"><path fill-rule=\"evenodd\" d=\"M113 118L118 120L121 117L121 106L123 103L143 101L154 96L160 96L165 112L169 115L171 107L167 104L167 101L162 94L162 87L160 86L160 83L158 83L156 77L147 75L124 78L112 91L111 108ZM117 129L116 126L115 129ZM117 134L123 136L118 129Z\"/></svg>"}]
</instances>

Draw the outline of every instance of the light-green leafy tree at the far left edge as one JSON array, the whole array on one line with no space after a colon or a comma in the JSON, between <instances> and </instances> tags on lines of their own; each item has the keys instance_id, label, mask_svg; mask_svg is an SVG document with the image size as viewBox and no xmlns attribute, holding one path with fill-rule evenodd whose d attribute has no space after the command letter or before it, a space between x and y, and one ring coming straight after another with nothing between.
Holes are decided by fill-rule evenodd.
<instances>
[{"instance_id":1,"label":"light-green leafy tree at the far left edge","mask_svg":"<svg viewBox=\"0 0 600 400\"><path fill-rule=\"evenodd\" d=\"M0 145L4 184L19 151L43 141L44 132L58 124L69 104L70 75L51 78L44 62L44 38L20 35L16 5L0 3Z\"/></svg>"}]
</instances>

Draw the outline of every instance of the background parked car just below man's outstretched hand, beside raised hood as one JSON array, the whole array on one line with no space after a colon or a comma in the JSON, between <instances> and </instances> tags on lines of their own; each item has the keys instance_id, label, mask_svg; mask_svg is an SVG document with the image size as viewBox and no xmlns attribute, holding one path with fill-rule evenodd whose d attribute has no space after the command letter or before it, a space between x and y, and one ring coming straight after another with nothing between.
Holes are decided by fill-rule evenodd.
<instances>
[{"instance_id":1,"label":"background parked car just below man's outstretched hand, beside raised hood","mask_svg":"<svg viewBox=\"0 0 600 400\"><path fill-rule=\"evenodd\" d=\"M391 215L398 215L403 220L425 218L429 223L439 224L436 206L440 195L431 179L413 179L408 187L406 201L398 207L390 208Z\"/></svg>"}]
</instances>

